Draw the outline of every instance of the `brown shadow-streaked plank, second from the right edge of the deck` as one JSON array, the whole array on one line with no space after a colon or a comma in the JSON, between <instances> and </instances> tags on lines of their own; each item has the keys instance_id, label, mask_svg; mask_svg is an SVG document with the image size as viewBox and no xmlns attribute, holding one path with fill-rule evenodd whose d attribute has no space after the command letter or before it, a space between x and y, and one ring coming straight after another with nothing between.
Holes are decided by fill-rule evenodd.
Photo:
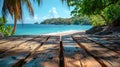
<instances>
[{"instance_id":1,"label":"brown shadow-streaked plank, second from the right edge of the deck","mask_svg":"<svg viewBox=\"0 0 120 67\"><path fill-rule=\"evenodd\" d=\"M113 51L103 48L85 38L75 39L79 45L96 58L103 67L120 67L120 58Z\"/></svg>"}]
</instances>

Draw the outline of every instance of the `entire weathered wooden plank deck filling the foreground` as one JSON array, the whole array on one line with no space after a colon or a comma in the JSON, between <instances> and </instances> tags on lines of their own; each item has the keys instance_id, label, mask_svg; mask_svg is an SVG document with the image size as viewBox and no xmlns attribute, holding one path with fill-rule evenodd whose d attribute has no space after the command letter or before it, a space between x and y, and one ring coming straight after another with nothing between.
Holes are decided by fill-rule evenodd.
<instances>
[{"instance_id":1,"label":"entire weathered wooden plank deck filling the foreground","mask_svg":"<svg viewBox=\"0 0 120 67\"><path fill-rule=\"evenodd\" d=\"M114 37L114 38L113 38ZM115 36L15 36L0 38L1 67L120 67Z\"/></svg>"}]
</instances>

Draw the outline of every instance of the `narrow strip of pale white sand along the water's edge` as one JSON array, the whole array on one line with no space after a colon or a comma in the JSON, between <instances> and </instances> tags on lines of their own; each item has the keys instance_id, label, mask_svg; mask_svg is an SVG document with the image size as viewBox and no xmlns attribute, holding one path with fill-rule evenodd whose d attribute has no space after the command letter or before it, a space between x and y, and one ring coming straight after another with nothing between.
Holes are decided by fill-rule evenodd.
<instances>
[{"instance_id":1,"label":"narrow strip of pale white sand along the water's edge","mask_svg":"<svg viewBox=\"0 0 120 67\"><path fill-rule=\"evenodd\" d=\"M65 35L72 35L75 33L84 33L85 30L69 30L69 31L63 31L63 32L56 32L56 33L49 33L49 34L43 34L43 35L50 35L50 36L65 36Z\"/></svg>"}]
</instances>

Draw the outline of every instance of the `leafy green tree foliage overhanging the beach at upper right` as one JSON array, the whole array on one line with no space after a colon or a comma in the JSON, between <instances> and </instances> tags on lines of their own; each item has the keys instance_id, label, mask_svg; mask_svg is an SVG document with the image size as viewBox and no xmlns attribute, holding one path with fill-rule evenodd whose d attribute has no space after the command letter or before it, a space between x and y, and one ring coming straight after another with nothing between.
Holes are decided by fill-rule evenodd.
<instances>
[{"instance_id":1,"label":"leafy green tree foliage overhanging the beach at upper right","mask_svg":"<svg viewBox=\"0 0 120 67\"><path fill-rule=\"evenodd\" d=\"M100 25L99 22L101 21L97 18L101 17L105 25L120 26L119 0L63 0L63 2L64 1L66 1L69 6L75 7L71 12L73 16L87 15L93 17L94 15L96 18L92 19L92 23L95 25ZM95 20L95 23L93 20ZM99 22L96 24L96 21ZM103 25L103 22L101 25Z\"/></svg>"}]
</instances>

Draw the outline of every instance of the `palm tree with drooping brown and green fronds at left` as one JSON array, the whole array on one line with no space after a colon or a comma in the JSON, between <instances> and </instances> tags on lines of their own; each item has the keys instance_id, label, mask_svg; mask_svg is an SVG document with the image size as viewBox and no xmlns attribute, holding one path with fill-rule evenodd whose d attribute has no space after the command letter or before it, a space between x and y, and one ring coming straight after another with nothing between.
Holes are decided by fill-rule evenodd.
<instances>
[{"instance_id":1,"label":"palm tree with drooping brown and green fronds at left","mask_svg":"<svg viewBox=\"0 0 120 67\"><path fill-rule=\"evenodd\" d=\"M33 0L40 4L41 0ZM4 0L2 7L2 15L3 18L6 18L9 14L14 18L14 27L11 34L14 34L16 30L16 25L18 20L22 20L23 18L23 9L22 5L25 4L29 10L30 15L34 16L33 8L31 5L31 0Z\"/></svg>"}]
</instances>

